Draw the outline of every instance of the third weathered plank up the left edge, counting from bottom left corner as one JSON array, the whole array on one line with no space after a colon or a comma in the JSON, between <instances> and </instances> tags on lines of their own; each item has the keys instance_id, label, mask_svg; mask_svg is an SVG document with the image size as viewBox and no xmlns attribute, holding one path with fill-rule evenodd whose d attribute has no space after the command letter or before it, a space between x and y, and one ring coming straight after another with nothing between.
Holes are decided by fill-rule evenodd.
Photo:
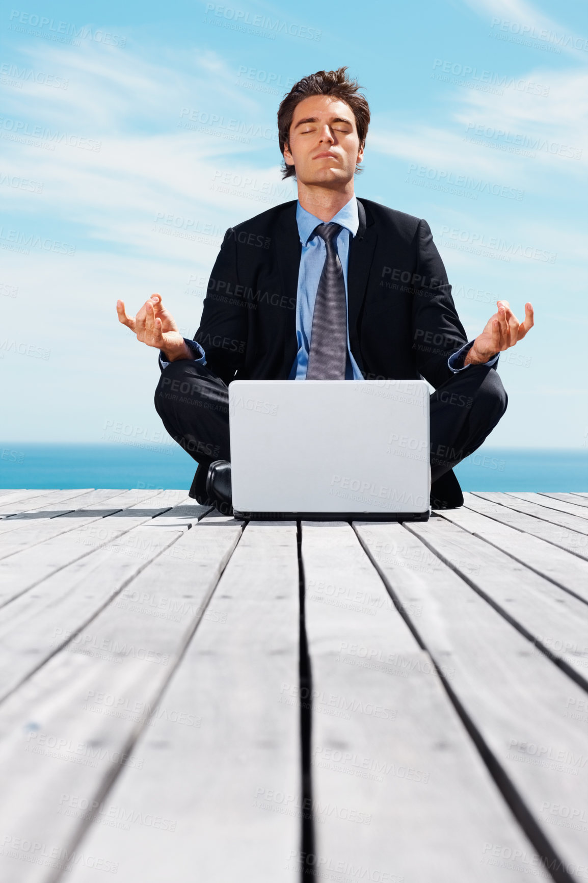
<instances>
[{"instance_id":1,"label":"third weathered plank up the left edge, counting from bottom left corner","mask_svg":"<svg viewBox=\"0 0 588 883\"><path fill-rule=\"evenodd\" d=\"M10 558L0 561L0 604L18 597L67 564L89 555L94 549L108 546L117 537L133 527L150 521L160 512L170 509L174 497L182 499L185 491L157 494L147 500L102 518L97 524L82 525L75 530L57 536L34 547L34 555L23 549Z\"/></svg>"}]
</instances>

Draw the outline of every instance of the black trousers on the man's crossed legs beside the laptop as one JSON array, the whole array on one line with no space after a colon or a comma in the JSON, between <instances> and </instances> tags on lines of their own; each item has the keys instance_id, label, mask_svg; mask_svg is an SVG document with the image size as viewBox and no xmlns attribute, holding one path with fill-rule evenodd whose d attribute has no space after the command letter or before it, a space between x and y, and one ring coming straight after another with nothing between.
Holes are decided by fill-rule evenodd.
<instances>
[{"instance_id":1,"label":"black trousers on the man's crossed legs beside the laptop","mask_svg":"<svg viewBox=\"0 0 588 883\"><path fill-rule=\"evenodd\" d=\"M433 508L435 502L441 508L443 503L460 505L460 498L463 502L451 470L479 448L507 403L499 375L485 365L452 374L431 394ZM155 390L155 410L171 437L200 464L202 491L208 465L214 460L230 460L228 387L214 372L190 359L170 362ZM201 495L197 494L197 499Z\"/></svg>"}]
</instances>

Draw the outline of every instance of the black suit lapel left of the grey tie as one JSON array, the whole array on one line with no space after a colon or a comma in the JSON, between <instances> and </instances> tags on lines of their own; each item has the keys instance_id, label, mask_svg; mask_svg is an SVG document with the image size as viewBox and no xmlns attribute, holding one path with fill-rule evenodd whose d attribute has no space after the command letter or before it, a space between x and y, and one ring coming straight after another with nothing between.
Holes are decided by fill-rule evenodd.
<instances>
[{"instance_id":1,"label":"black suit lapel left of the grey tie","mask_svg":"<svg viewBox=\"0 0 588 883\"><path fill-rule=\"evenodd\" d=\"M282 291L288 298L289 304L296 304L298 270L302 253L298 223L296 222L296 207L297 201L295 200L283 212L275 231L275 246L282 279ZM278 312L283 313L283 379L285 380L290 374L290 368L298 352L296 309L286 308Z\"/></svg>"}]
</instances>

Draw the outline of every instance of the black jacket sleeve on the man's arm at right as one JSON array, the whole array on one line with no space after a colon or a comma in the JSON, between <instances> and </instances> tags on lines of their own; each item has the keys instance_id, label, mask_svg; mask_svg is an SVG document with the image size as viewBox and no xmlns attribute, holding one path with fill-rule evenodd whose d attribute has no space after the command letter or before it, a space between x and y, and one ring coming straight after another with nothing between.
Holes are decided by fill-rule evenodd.
<instances>
[{"instance_id":1,"label":"black jacket sleeve on the man's arm at right","mask_svg":"<svg viewBox=\"0 0 588 883\"><path fill-rule=\"evenodd\" d=\"M449 356L467 343L441 255L426 221L418 223L412 345L420 374L435 389L452 376Z\"/></svg>"}]
</instances>

